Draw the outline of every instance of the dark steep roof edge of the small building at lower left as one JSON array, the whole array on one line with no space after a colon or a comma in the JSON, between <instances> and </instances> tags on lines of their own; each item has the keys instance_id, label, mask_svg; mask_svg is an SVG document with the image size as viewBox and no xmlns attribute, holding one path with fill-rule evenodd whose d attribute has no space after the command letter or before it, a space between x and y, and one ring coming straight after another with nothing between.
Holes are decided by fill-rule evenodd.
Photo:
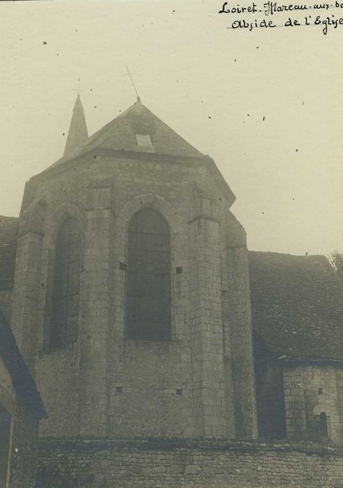
<instances>
[{"instance_id":1,"label":"dark steep roof edge of the small building at lower left","mask_svg":"<svg viewBox=\"0 0 343 488\"><path fill-rule=\"evenodd\" d=\"M17 395L36 418L45 418L47 412L42 404L35 381L26 367L12 330L0 310L0 357L3 359L13 381Z\"/></svg>"}]
</instances>

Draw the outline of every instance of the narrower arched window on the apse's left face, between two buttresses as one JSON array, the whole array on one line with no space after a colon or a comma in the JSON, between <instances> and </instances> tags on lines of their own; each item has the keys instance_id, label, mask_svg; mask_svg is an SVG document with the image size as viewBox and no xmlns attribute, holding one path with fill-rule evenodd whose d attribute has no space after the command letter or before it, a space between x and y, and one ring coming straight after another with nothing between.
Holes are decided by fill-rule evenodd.
<instances>
[{"instance_id":1,"label":"narrower arched window on the apse's left face, between two buttresses","mask_svg":"<svg viewBox=\"0 0 343 488\"><path fill-rule=\"evenodd\" d=\"M81 228L67 218L56 237L54 288L49 345L59 349L71 344L77 332L81 268Z\"/></svg>"}]
</instances>

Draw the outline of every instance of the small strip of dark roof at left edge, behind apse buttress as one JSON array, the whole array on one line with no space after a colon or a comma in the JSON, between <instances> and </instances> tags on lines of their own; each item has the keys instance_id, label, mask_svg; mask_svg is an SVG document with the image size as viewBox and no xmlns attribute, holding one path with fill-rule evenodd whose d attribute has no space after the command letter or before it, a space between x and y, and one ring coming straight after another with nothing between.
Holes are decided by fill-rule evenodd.
<instances>
[{"instance_id":1,"label":"small strip of dark roof at left edge, behind apse buttress","mask_svg":"<svg viewBox=\"0 0 343 488\"><path fill-rule=\"evenodd\" d=\"M13 289L18 219L0 215L0 290Z\"/></svg>"}]
</instances>

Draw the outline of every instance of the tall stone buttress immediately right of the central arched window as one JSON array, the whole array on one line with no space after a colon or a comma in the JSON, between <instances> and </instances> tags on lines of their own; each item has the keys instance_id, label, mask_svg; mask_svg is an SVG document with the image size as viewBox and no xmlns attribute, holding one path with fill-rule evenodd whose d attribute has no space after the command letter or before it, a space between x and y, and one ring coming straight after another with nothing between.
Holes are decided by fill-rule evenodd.
<instances>
[{"instance_id":1,"label":"tall stone buttress immediately right of the central arched window","mask_svg":"<svg viewBox=\"0 0 343 488\"><path fill-rule=\"evenodd\" d=\"M192 390L198 435L220 436L227 429L220 233L216 201L195 193L190 222Z\"/></svg>"}]
</instances>

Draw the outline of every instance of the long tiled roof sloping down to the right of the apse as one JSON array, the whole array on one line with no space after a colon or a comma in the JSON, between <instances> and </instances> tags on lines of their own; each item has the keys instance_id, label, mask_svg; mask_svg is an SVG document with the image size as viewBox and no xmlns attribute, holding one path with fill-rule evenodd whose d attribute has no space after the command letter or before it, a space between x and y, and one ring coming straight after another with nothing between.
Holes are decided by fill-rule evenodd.
<instances>
[{"instance_id":1,"label":"long tiled roof sloping down to the right of the apse","mask_svg":"<svg viewBox=\"0 0 343 488\"><path fill-rule=\"evenodd\" d=\"M253 329L288 359L343 359L343 285L324 256L250 252Z\"/></svg>"}]
</instances>

